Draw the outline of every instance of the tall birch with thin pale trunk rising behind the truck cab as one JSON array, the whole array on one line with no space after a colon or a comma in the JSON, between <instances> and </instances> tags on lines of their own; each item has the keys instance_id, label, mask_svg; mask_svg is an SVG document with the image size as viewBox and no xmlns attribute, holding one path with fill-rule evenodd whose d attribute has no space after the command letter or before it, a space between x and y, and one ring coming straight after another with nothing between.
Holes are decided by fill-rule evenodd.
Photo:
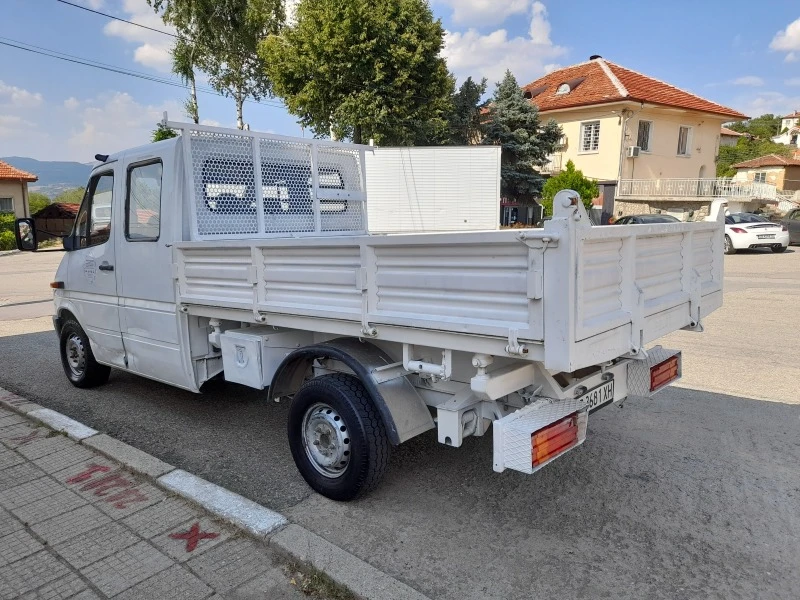
<instances>
[{"instance_id":1,"label":"tall birch with thin pale trunk rising behind the truck cab","mask_svg":"<svg viewBox=\"0 0 800 600\"><path fill-rule=\"evenodd\" d=\"M195 66L204 71L211 87L233 98L237 127L244 129L244 101L272 95L258 44L283 26L283 0L147 0L147 3L161 14L164 23L178 31L176 72L186 77L190 72L187 66L191 66L193 78ZM186 40L185 45L180 39ZM190 53L188 63L185 52Z\"/></svg>"}]
</instances>

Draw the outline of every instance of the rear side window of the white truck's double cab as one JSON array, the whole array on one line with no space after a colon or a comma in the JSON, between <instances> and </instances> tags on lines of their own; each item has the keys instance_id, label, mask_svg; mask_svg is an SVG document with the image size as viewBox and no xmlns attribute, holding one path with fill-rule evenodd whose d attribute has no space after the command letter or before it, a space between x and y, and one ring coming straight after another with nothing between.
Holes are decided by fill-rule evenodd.
<instances>
[{"instance_id":1,"label":"rear side window of the white truck's double cab","mask_svg":"<svg viewBox=\"0 0 800 600\"><path fill-rule=\"evenodd\" d=\"M129 242L155 242L161 235L161 161L128 169L125 238Z\"/></svg>"}]
</instances>

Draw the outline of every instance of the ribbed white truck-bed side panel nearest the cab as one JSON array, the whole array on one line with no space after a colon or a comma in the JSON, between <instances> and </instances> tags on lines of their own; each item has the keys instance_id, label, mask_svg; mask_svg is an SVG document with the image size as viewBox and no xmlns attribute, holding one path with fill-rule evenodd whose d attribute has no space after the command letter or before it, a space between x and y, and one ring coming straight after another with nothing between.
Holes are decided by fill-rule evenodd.
<instances>
[{"instance_id":1,"label":"ribbed white truck-bed side panel nearest the cab","mask_svg":"<svg viewBox=\"0 0 800 600\"><path fill-rule=\"evenodd\" d=\"M187 299L253 303L250 248L181 248L181 296Z\"/></svg>"}]
</instances>

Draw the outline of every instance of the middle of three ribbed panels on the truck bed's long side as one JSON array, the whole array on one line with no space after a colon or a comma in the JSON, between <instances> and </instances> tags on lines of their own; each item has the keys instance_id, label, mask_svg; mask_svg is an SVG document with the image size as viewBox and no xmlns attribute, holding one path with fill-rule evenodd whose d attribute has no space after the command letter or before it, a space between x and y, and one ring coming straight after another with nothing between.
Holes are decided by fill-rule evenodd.
<instances>
[{"instance_id":1,"label":"middle of three ribbed panels on the truck bed's long side","mask_svg":"<svg viewBox=\"0 0 800 600\"><path fill-rule=\"evenodd\" d=\"M358 246L289 248L266 247L264 283L266 305L291 313L293 308L361 315L361 291L356 271L361 267Z\"/></svg>"}]
</instances>

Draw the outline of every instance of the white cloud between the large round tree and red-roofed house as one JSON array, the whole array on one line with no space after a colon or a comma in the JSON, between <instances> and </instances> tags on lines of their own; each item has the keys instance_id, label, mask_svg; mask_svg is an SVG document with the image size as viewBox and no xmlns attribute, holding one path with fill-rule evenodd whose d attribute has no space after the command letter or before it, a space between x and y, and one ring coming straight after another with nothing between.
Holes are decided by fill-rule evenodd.
<instances>
[{"instance_id":1,"label":"white cloud between the large round tree and red-roofed house","mask_svg":"<svg viewBox=\"0 0 800 600\"><path fill-rule=\"evenodd\" d=\"M553 61L567 49L550 41L547 9L541 2L532 5L531 24L527 37L509 38L508 31L498 29L486 35L476 29L445 32L443 55L459 78L486 77L490 83L502 79L510 69L520 85L558 68Z\"/></svg>"}]
</instances>

